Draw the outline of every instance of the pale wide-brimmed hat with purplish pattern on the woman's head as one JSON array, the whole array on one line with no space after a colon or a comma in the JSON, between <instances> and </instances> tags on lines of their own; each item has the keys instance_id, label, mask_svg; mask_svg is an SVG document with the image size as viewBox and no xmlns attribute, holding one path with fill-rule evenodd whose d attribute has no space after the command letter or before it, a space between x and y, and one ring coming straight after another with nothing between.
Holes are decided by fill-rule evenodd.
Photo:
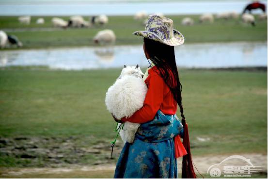
<instances>
[{"instance_id":1,"label":"pale wide-brimmed hat with purplish pattern on the woman's head","mask_svg":"<svg viewBox=\"0 0 268 179\"><path fill-rule=\"evenodd\" d=\"M136 31L132 34L153 39L169 46L178 46L184 42L183 35L173 29L173 20L158 15L148 17L145 31Z\"/></svg>"}]
</instances>

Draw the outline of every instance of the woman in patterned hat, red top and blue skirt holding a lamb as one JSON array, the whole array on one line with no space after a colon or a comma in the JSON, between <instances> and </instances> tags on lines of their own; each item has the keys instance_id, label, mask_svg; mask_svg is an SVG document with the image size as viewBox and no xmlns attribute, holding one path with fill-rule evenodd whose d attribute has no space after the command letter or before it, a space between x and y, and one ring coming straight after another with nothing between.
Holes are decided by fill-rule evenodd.
<instances>
[{"instance_id":1,"label":"woman in patterned hat, red top and blue skirt holding a lamb","mask_svg":"<svg viewBox=\"0 0 268 179\"><path fill-rule=\"evenodd\" d=\"M150 61L143 76L148 91L140 110L119 119L141 126L134 142L123 147L114 178L177 178L176 158L180 156L184 156L182 177L195 178L174 54L174 46L183 44L184 37L173 29L171 19L157 15L149 16L145 31L133 34L144 38L144 54ZM177 104L182 122L176 116Z\"/></svg>"}]
</instances>

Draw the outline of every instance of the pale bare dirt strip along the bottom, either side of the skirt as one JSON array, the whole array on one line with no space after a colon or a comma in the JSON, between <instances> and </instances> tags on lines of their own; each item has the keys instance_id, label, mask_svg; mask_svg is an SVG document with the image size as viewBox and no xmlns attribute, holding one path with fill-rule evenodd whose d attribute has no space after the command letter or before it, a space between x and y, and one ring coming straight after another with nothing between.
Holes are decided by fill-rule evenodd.
<instances>
[{"instance_id":1,"label":"pale bare dirt strip along the bottom, either side of the skirt","mask_svg":"<svg viewBox=\"0 0 268 179\"><path fill-rule=\"evenodd\" d=\"M250 159L254 166L263 166L263 172L267 174L267 155L262 154L240 154L241 156ZM230 155L207 155L207 156L193 156L193 161L198 168L199 172L206 174L209 166L221 163L222 160ZM245 161L240 159L231 159L228 162L229 165L246 165ZM2 168L0 169L1 178L72 178L81 177L86 178L111 178L113 176L115 165L114 164L100 164L97 166L81 166L71 165L70 167L59 168ZM181 159L178 160L178 173L181 172Z\"/></svg>"}]
</instances>

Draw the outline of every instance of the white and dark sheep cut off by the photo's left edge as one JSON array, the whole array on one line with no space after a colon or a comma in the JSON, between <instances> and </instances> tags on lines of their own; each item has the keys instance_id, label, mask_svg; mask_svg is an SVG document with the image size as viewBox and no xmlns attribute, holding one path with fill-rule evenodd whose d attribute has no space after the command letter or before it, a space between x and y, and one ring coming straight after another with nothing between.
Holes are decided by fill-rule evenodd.
<instances>
[{"instance_id":1,"label":"white and dark sheep cut off by the photo's left edge","mask_svg":"<svg viewBox=\"0 0 268 179\"><path fill-rule=\"evenodd\" d=\"M15 35L8 35L4 31L0 31L0 48L3 49L8 45L16 45L16 47L22 47L22 43Z\"/></svg>"}]
</instances>

